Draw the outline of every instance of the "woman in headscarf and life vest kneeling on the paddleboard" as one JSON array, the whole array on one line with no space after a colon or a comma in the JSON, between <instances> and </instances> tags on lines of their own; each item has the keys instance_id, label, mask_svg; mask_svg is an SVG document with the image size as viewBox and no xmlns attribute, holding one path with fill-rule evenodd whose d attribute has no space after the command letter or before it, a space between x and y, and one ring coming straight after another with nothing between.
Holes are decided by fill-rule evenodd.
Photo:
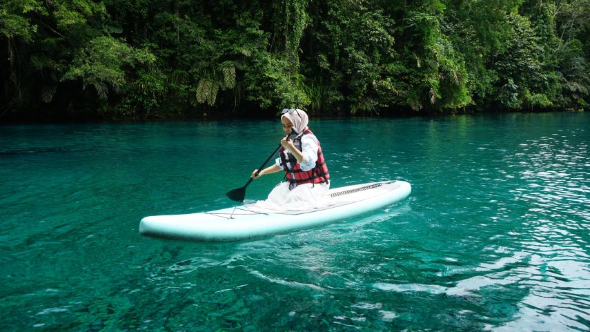
<instances>
[{"instance_id":1,"label":"woman in headscarf and life vest kneeling on the paddleboard","mask_svg":"<svg viewBox=\"0 0 590 332\"><path fill-rule=\"evenodd\" d=\"M275 164L258 174L257 169L254 170L252 178L257 179L262 175L284 170L287 182L276 186L268 194L268 199L258 201L255 205L282 211L326 206L328 202L325 196L330 188L330 174L319 141L307 127L307 113L297 108L285 108L281 122L286 135L291 133L291 128L295 128L299 135L293 140L284 137Z\"/></svg>"}]
</instances>

